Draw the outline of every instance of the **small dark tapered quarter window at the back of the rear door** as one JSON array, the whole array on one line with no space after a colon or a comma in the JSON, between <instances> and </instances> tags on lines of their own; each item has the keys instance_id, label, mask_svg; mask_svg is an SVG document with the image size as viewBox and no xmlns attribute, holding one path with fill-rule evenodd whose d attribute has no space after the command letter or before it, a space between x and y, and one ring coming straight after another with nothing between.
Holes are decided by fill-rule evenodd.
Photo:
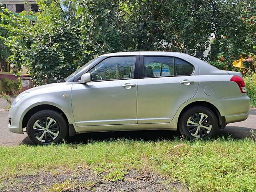
<instances>
[{"instance_id":1,"label":"small dark tapered quarter window at the back of the rear door","mask_svg":"<svg viewBox=\"0 0 256 192\"><path fill-rule=\"evenodd\" d=\"M175 58L175 76L192 75L194 66L182 59Z\"/></svg>"}]
</instances>

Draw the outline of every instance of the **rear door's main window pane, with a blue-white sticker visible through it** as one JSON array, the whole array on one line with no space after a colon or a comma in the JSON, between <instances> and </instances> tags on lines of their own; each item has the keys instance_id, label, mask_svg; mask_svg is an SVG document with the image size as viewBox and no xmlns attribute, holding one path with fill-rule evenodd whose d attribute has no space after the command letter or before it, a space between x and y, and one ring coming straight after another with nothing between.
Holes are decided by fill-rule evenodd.
<instances>
[{"instance_id":1,"label":"rear door's main window pane, with a blue-white sticker visible through it","mask_svg":"<svg viewBox=\"0 0 256 192\"><path fill-rule=\"evenodd\" d=\"M144 57L144 77L160 77L174 75L173 57Z\"/></svg>"}]
</instances>

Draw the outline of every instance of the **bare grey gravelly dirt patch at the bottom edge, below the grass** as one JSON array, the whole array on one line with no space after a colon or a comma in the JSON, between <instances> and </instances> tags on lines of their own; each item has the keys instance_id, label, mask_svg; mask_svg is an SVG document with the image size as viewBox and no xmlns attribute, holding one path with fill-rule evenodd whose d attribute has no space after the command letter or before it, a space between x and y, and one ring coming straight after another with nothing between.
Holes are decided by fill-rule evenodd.
<instances>
[{"instance_id":1,"label":"bare grey gravelly dirt patch at the bottom edge, below the grass","mask_svg":"<svg viewBox=\"0 0 256 192\"><path fill-rule=\"evenodd\" d=\"M69 181L62 192L188 192L178 183L170 182L158 174L128 171L123 181L104 180L103 174L80 168L75 172L51 174L39 172L36 175L19 176L3 182L1 192L44 192L59 191L58 184ZM57 184L57 185L56 185ZM53 187L55 186L55 188Z\"/></svg>"}]
</instances>

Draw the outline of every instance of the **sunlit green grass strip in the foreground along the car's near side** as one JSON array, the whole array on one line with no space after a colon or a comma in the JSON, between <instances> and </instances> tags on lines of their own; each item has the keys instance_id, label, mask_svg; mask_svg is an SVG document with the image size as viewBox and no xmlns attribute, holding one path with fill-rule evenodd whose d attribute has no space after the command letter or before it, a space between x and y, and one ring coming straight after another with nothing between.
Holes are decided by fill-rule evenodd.
<instances>
[{"instance_id":1,"label":"sunlit green grass strip in the foreground along the car's near side","mask_svg":"<svg viewBox=\"0 0 256 192\"><path fill-rule=\"evenodd\" d=\"M179 144L184 146L174 148ZM195 192L252 192L256 191L255 146L256 141L249 138L218 138L0 147L0 179L86 166L112 181L123 180L130 169L150 170L178 180ZM69 184L66 181L63 186Z\"/></svg>"}]
</instances>

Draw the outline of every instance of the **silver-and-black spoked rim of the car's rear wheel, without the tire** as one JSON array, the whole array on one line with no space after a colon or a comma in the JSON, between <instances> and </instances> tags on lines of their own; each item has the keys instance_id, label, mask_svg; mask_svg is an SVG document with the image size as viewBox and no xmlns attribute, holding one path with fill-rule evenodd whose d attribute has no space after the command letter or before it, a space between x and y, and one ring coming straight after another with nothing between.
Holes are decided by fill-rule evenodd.
<instances>
[{"instance_id":1,"label":"silver-and-black spoked rim of the car's rear wheel, without the tire","mask_svg":"<svg viewBox=\"0 0 256 192\"><path fill-rule=\"evenodd\" d=\"M212 130L212 122L204 113L192 114L187 121L188 132L196 138L207 136Z\"/></svg>"}]
</instances>

